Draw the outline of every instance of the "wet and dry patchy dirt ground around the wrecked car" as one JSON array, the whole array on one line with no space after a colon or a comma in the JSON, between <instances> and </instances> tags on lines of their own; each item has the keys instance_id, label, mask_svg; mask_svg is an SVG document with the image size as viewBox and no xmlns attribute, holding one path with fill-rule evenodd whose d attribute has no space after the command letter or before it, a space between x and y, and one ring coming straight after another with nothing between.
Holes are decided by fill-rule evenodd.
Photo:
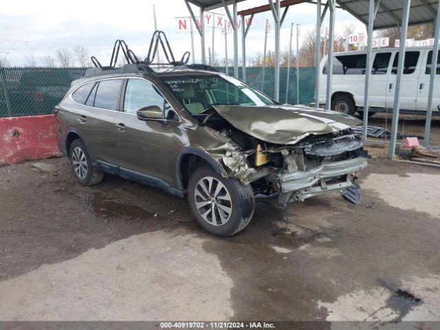
<instances>
[{"instance_id":1,"label":"wet and dry patchy dirt ground around the wrecked car","mask_svg":"<svg viewBox=\"0 0 440 330\"><path fill-rule=\"evenodd\" d=\"M440 320L440 170L371 159L362 203L259 199L219 238L186 199L65 158L0 167L0 320Z\"/></svg>"}]
</instances>

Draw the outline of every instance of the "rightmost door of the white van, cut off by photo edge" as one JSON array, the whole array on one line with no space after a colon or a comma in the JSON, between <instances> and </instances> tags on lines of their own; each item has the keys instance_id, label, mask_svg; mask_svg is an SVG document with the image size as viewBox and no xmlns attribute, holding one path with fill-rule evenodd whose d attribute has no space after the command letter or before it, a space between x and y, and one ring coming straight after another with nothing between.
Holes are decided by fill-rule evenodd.
<instances>
[{"instance_id":1,"label":"rightmost door of the white van, cut off by photo edge","mask_svg":"<svg viewBox=\"0 0 440 330\"><path fill-rule=\"evenodd\" d=\"M440 51L439 51L440 55ZM417 109L426 111L428 107L429 83L432 69L432 50L425 50L419 76L417 94ZM437 111L440 105L440 56L437 58L437 67L434 79L434 94L432 95L432 111Z\"/></svg>"}]
</instances>

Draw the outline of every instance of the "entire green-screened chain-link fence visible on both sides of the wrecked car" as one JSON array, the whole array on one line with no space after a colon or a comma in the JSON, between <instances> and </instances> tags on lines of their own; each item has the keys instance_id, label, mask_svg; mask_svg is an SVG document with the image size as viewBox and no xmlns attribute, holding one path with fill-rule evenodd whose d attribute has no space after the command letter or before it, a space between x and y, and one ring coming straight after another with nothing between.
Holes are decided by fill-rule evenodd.
<instances>
[{"instance_id":1,"label":"entire green-screened chain-link fence visible on both sides of the wrecked car","mask_svg":"<svg viewBox=\"0 0 440 330\"><path fill-rule=\"evenodd\" d=\"M87 68L6 67L0 68L0 117L44 115L65 96L70 84L83 76ZM224 67L218 68L225 72ZM265 94L274 96L274 68L248 67L248 83ZM314 67L300 67L300 104L314 98ZM232 75L233 67L228 68ZM241 68L239 75L241 78ZM287 68L280 72L280 101L285 102ZM296 104L296 69L291 68L288 103Z\"/></svg>"}]
</instances>

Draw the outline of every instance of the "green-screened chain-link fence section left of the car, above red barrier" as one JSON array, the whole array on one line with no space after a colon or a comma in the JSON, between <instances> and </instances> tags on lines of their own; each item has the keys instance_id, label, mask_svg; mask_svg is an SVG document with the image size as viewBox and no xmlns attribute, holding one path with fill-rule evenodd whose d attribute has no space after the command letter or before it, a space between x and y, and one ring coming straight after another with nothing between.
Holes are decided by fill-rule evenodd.
<instances>
[{"instance_id":1,"label":"green-screened chain-link fence section left of the car, above red barrier","mask_svg":"<svg viewBox=\"0 0 440 330\"><path fill-rule=\"evenodd\" d=\"M85 68L0 68L0 117L45 115L65 96Z\"/></svg>"}]
</instances>

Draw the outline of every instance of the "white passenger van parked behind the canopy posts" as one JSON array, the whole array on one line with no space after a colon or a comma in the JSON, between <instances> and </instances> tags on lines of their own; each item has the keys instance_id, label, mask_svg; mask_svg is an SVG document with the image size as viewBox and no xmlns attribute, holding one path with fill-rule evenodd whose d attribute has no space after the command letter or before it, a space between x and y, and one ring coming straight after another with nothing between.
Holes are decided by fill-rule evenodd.
<instances>
[{"instance_id":1,"label":"white passenger van parked behind the canopy posts","mask_svg":"<svg viewBox=\"0 0 440 330\"><path fill-rule=\"evenodd\" d=\"M395 94L397 48L373 50L373 69L369 89L370 111L392 109ZM440 54L440 52L439 52ZM353 115L364 107L366 52L343 52L333 55L331 110ZM401 80L401 113L426 113L431 73L432 47L410 47L406 50ZM440 55L434 85L432 111L440 106ZM320 104L326 102L327 56L320 63Z\"/></svg>"}]
</instances>

